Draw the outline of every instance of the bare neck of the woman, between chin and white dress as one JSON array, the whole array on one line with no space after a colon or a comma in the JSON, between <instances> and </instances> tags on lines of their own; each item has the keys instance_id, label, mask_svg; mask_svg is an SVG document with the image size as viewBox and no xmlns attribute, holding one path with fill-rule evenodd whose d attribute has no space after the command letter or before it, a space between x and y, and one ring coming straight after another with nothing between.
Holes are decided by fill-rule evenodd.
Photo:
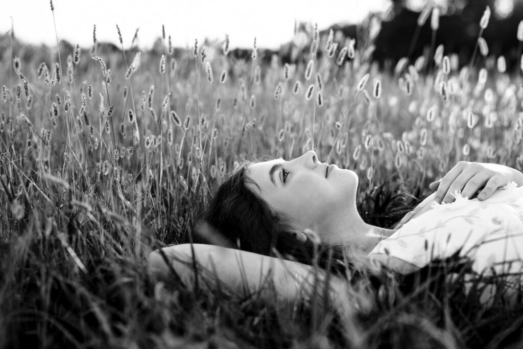
<instances>
[{"instance_id":1,"label":"bare neck of the woman, between chin and white dress","mask_svg":"<svg viewBox=\"0 0 523 349\"><path fill-rule=\"evenodd\" d=\"M365 223L355 208L339 217L343 219L326 224L328 228L325 231L331 233L324 240L329 245L346 245L363 253L369 253L378 242L390 237L394 232L392 229Z\"/></svg>"}]
</instances>

